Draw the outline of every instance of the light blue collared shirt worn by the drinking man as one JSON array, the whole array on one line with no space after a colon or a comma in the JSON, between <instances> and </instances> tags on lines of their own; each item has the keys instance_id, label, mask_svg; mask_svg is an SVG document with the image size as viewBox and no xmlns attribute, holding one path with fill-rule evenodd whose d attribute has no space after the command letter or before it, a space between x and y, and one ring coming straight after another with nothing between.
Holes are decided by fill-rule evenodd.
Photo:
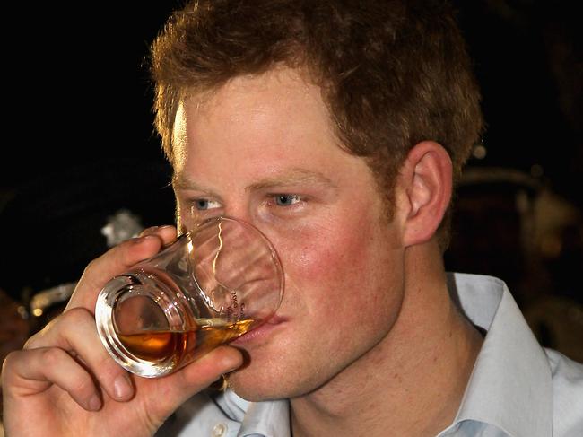
<instances>
[{"instance_id":1,"label":"light blue collared shirt worn by the drinking man","mask_svg":"<svg viewBox=\"0 0 583 437\"><path fill-rule=\"evenodd\" d=\"M438 436L583 437L583 365L538 345L499 279L453 274L449 288L487 334L456 418ZM289 408L286 399L248 402L229 389L201 393L159 435L290 437Z\"/></svg>"}]
</instances>

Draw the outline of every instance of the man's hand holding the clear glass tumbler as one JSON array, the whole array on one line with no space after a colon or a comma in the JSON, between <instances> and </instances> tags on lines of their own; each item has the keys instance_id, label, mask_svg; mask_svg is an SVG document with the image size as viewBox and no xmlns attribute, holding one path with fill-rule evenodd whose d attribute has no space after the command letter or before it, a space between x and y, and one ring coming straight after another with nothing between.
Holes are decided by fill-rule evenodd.
<instances>
[{"instance_id":1,"label":"man's hand holding the clear glass tumbler","mask_svg":"<svg viewBox=\"0 0 583 437\"><path fill-rule=\"evenodd\" d=\"M63 314L8 355L7 437L152 435L187 398L241 365L237 349L221 346L170 376L144 379L124 371L101 345L93 317L101 287L175 239L173 227L150 229L92 261Z\"/></svg>"}]
</instances>

